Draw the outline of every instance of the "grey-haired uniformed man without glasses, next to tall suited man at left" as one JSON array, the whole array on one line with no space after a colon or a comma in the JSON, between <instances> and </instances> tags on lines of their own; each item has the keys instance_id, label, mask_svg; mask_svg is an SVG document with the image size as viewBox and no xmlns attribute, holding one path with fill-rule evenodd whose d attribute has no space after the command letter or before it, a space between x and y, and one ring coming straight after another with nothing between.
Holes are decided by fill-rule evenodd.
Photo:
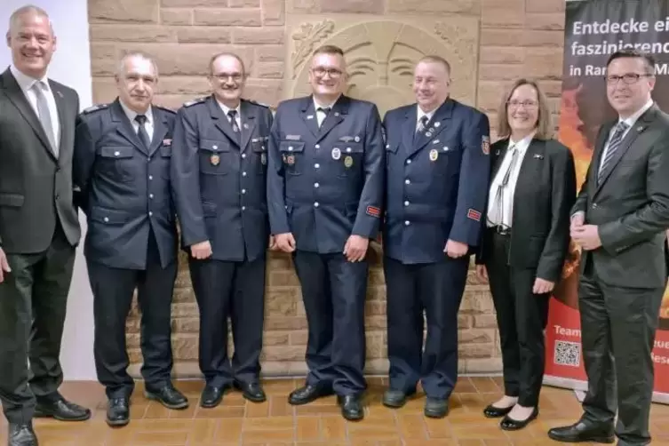
<instances>
[{"instance_id":1,"label":"grey-haired uniformed man without glasses, next to tall suited man at left","mask_svg":"<svg viewBox=\"0 0 669 446\"><path fill-rule=\"evenodd\" d=\"M147 398L184 409L171 384L171 299L178 234L171 201L174 113L151 104L158 71L140 52L121 60L111 104L84 110L76 127L76 203L86 214L84 254L93 292L94 354L109 399L107 422L130 421L134 382L128 375L125 321L135 288Z\"/></svg>"}]
</instances>

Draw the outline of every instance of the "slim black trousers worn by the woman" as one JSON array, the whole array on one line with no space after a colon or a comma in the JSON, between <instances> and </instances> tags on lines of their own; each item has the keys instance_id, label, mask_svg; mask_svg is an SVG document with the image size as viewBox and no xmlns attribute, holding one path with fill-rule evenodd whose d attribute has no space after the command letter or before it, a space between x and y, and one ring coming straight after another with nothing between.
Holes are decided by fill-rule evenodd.
<instances>
[{"instance_id":1,"label":"slim black trousers worn by the woman","mask_svg":"<svg viewBox=\"0 0 669 446\"><path fill-rule=\"evenodd\" d=\"M491 249L486 269L497 312L505 394L518 397L522 406L535 407L544 380L544 330L551 295L532 292L536 269L508 266L511 236L488 231Z\"/></svg>"}]
</instances>

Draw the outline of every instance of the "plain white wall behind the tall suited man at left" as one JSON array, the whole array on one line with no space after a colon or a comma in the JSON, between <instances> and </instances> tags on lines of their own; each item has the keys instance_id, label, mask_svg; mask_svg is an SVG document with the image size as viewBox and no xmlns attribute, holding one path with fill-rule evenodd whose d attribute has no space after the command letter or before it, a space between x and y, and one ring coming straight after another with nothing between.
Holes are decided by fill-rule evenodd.
<instances>
[{"instance_id":1,"label":"plain white wall behind the tall suited man at left","mask_svg":"<svg viewBox=\"0 0 669 446\"><path fill-rule=\"evenodd\" d=\"M0 70L12 61L12 54L4 38L12 12L28 4L26 0L0 0ZM88 39L88 11L86 0L32 0L49 13L58 38L58 47L49 68L49 77L74 88L79 93L81 107L92 104L91 56ZM85 221L80 214L82 228ZM83 238L82 238L83 240ZM93 308L92 293L86 274L82 246L77 250L75 275L69 293L68 316L60 354L66 379L96 379L93 363Z\"/></svg>"}]
</instances>

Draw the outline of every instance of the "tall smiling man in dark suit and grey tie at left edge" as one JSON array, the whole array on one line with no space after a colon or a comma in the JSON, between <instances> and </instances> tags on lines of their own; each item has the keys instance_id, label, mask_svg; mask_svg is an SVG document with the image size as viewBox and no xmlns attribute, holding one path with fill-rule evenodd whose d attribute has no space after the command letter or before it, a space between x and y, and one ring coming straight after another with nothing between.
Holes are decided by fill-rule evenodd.
<instances>
[{"instance_id":1,"label":"tall smiling man in dark suit and grey tie at left edge","mask_svg":"<svg viewBox=\"0 0 669 446\"><path fill-rule=\"evenodd\" d=\"M0 401L9 444L31 446L34 415L91 417L58 392L81 236L72 202L79 98L46 76L56 38L44 10L13 12L7 44L12 66L0 75Z\"/></svg>"}]
</instances>

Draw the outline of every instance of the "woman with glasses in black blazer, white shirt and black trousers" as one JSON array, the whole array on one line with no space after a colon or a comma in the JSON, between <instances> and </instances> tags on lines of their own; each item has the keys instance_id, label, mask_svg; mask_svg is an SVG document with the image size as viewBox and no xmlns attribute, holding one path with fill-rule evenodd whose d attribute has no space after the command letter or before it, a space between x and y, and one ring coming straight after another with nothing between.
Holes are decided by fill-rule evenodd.
<instances>
[{"instance_id":1,"label":"woman with glasses in black blazer, white shirt and black trousers","mask_svg":"<svg viewBox=\"0 0 669 446\"><path fill-rule=\"evenodd\" d=\"M569 247L569 210L576 199L574 158L551 139L546 97L521 79L499 108L490 147L490 195L476 273L490 283L497 310L505 395L484 411L517 430L538 416L544 376L548 300Z\"/></svg>"}]
</instances>

